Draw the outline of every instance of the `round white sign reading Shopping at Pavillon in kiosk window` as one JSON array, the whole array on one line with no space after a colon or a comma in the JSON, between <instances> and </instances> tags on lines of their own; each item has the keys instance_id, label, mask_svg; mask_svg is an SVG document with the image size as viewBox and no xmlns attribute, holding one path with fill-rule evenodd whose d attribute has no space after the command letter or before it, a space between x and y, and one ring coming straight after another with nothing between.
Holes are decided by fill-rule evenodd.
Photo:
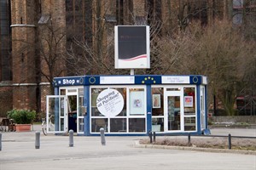
<instances>
[{"instance_id":1,"label":"round white sign reading Shopping at Pavillon in kiosk window","mask_svg":"<svg viewBox=\"0 0 256 170\"><path fill-rule=\"evenodd\" d=\"M108 88L98 95L96 106L98 111L104 116L117 116L124 108L124 98L119 91Z\"/></svg>"}]
</instances>

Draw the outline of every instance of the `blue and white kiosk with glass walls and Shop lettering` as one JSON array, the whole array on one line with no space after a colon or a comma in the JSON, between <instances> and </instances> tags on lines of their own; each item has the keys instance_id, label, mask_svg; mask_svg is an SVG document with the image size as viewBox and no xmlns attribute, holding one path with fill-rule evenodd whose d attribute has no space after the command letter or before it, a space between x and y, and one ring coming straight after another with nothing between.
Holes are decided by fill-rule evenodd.
<instances>
[{"instance_id":1,"label":"blue and white kiosk with glass walls and Shop lettering","mask_svg":"<svg viewBox=\"0 0 256 170\"><path fill-rule=\"evenodd\" d=\"M55 77L47 96L48 133L78 135L202 134L207 77L127 75ZM51 123L49 123L51 122Z\"/></svg>"}]
</instances>

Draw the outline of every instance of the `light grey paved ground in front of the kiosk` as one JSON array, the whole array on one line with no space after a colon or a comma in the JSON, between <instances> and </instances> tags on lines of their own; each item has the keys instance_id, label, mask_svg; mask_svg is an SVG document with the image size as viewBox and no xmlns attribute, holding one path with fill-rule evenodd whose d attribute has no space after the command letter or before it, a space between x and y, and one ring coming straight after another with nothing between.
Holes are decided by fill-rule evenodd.
<instances>
[{"instance_id":1,"label":"light grey paved ground in front of the kiosk","mask_svg":"<svg viewBox=\"0 0 256 170\"><path fill-rule=\"evenodd\" d=\"M135 148L137 139L147 137L74 137L69 147L68 136L40 136L40 149L35 149L35 130L29 133L2 133L0 170L23 169L147 169L147 170L255 170L256 156L212 153L191 150ZM255 129L212 129L212 134L256 136Z\"/></svg>"}]
</instances>

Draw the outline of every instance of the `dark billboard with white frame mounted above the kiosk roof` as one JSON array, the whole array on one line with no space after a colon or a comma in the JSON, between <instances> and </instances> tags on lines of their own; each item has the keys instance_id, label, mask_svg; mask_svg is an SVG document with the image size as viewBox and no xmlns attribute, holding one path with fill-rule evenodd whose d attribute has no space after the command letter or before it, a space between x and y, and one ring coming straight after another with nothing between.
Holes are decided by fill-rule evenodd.
<instances>
[{"instance_id":1,"label":"dark billboard with white frame mounted above the kiosk roof","mask_svg":"<svg viewBox=\"0 0 256 170\"><path fill-rule=\"evenodd\" d=\"M150 68L149 26L115 26L115 68Z\"/></svg>"}]
</instances>

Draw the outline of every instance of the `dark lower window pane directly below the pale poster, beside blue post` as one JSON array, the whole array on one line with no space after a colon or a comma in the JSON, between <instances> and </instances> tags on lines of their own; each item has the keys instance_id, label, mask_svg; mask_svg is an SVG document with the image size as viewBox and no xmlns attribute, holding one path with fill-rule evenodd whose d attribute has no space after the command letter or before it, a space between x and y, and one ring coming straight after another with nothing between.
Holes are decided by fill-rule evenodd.
<instances>
[{"instance_id":1,"label":"dark lower window pane directly below the pale poster, beside blue post","mask_svg":"<svg viewBox=\"0 0 256 170\"><path fill-rule=\"evenodd\" d=\"M129 119L129 132L145 132L145 119L144 118L130 118Z\"/></svg>"}]
</instances>

